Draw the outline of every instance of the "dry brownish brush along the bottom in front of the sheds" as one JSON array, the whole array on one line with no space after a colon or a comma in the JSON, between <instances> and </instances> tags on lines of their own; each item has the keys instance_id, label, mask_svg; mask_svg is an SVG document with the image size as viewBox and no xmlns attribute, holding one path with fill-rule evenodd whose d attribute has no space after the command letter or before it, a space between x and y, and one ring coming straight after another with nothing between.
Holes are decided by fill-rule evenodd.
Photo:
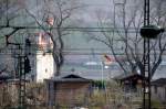
<instances>
[{"instance_id":1,"label":"dry brownish brush along the bottom in front of the sheds","mask_svg":"<svg viewBox=\"0 0 166 109\"><path fill-rule=\"evenodd\" d=\"M65 94L66 96L62 95ZM138 109L142 105L142 96L136 92L125 94L120 88L106 87L106 89L93 88L90 90L72 91L69 89L59 90L59 98L54 106L49 106L43 84L27 84L27 107L28 109L74 109L86 107L89 109ZM58 97L56 96L56 97ZM18 88L14 84L0 84L0 109L10 109L18 106ZM141 109L141 108L139 108ZM166 109L165 105L154 103L154 109Z\"/></svg>"}]
</instances>

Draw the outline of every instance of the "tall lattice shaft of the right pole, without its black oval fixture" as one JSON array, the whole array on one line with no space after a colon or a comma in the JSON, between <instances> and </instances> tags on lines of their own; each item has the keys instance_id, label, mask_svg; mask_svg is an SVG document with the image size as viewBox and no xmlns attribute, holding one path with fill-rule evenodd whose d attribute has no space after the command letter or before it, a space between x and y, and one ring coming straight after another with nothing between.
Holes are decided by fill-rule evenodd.
<instances>
[{"instance_id":1,"label":"tall lattice shaft of the right pole, without its black oval fixture","mask_svg":"<svg viewBox=\"0 0 166 109\"><path fill-rule=\"evenodd\" d=\"M149 0L144 0L144 26L149 25ZM144 39L144 94L143 109L151 109L149 39ZM147 79L146 79L147 78Z\"/></svg>"}]
</instances>

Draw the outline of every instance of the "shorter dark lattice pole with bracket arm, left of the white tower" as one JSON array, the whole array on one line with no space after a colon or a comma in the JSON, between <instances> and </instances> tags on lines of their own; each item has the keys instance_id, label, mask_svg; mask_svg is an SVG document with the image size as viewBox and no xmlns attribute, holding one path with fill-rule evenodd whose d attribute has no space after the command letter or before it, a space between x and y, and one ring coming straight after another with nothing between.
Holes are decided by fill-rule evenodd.
<instances>
[{"instance_id":1,"label":"shorter dark lattice pole with bracket arm, left of the white tower","mask_svg":"<svg viewBox=\"0 0 166 109\"><path fill-rule=\"evenodd\" d=\"M23 44L20 43L10 43L7 40L7 45L14 45L18 50L17 54L14 54L14 58L18 59L18 78L19 78L19 106L18 109L25 109L25 74L31 70L30 67L30 61L28 58L28 55L30 55L30 46L31 43L27 39L25 40L25 45L24 45L24 51L23 51Z\"/></svg>"}]
</instances>

